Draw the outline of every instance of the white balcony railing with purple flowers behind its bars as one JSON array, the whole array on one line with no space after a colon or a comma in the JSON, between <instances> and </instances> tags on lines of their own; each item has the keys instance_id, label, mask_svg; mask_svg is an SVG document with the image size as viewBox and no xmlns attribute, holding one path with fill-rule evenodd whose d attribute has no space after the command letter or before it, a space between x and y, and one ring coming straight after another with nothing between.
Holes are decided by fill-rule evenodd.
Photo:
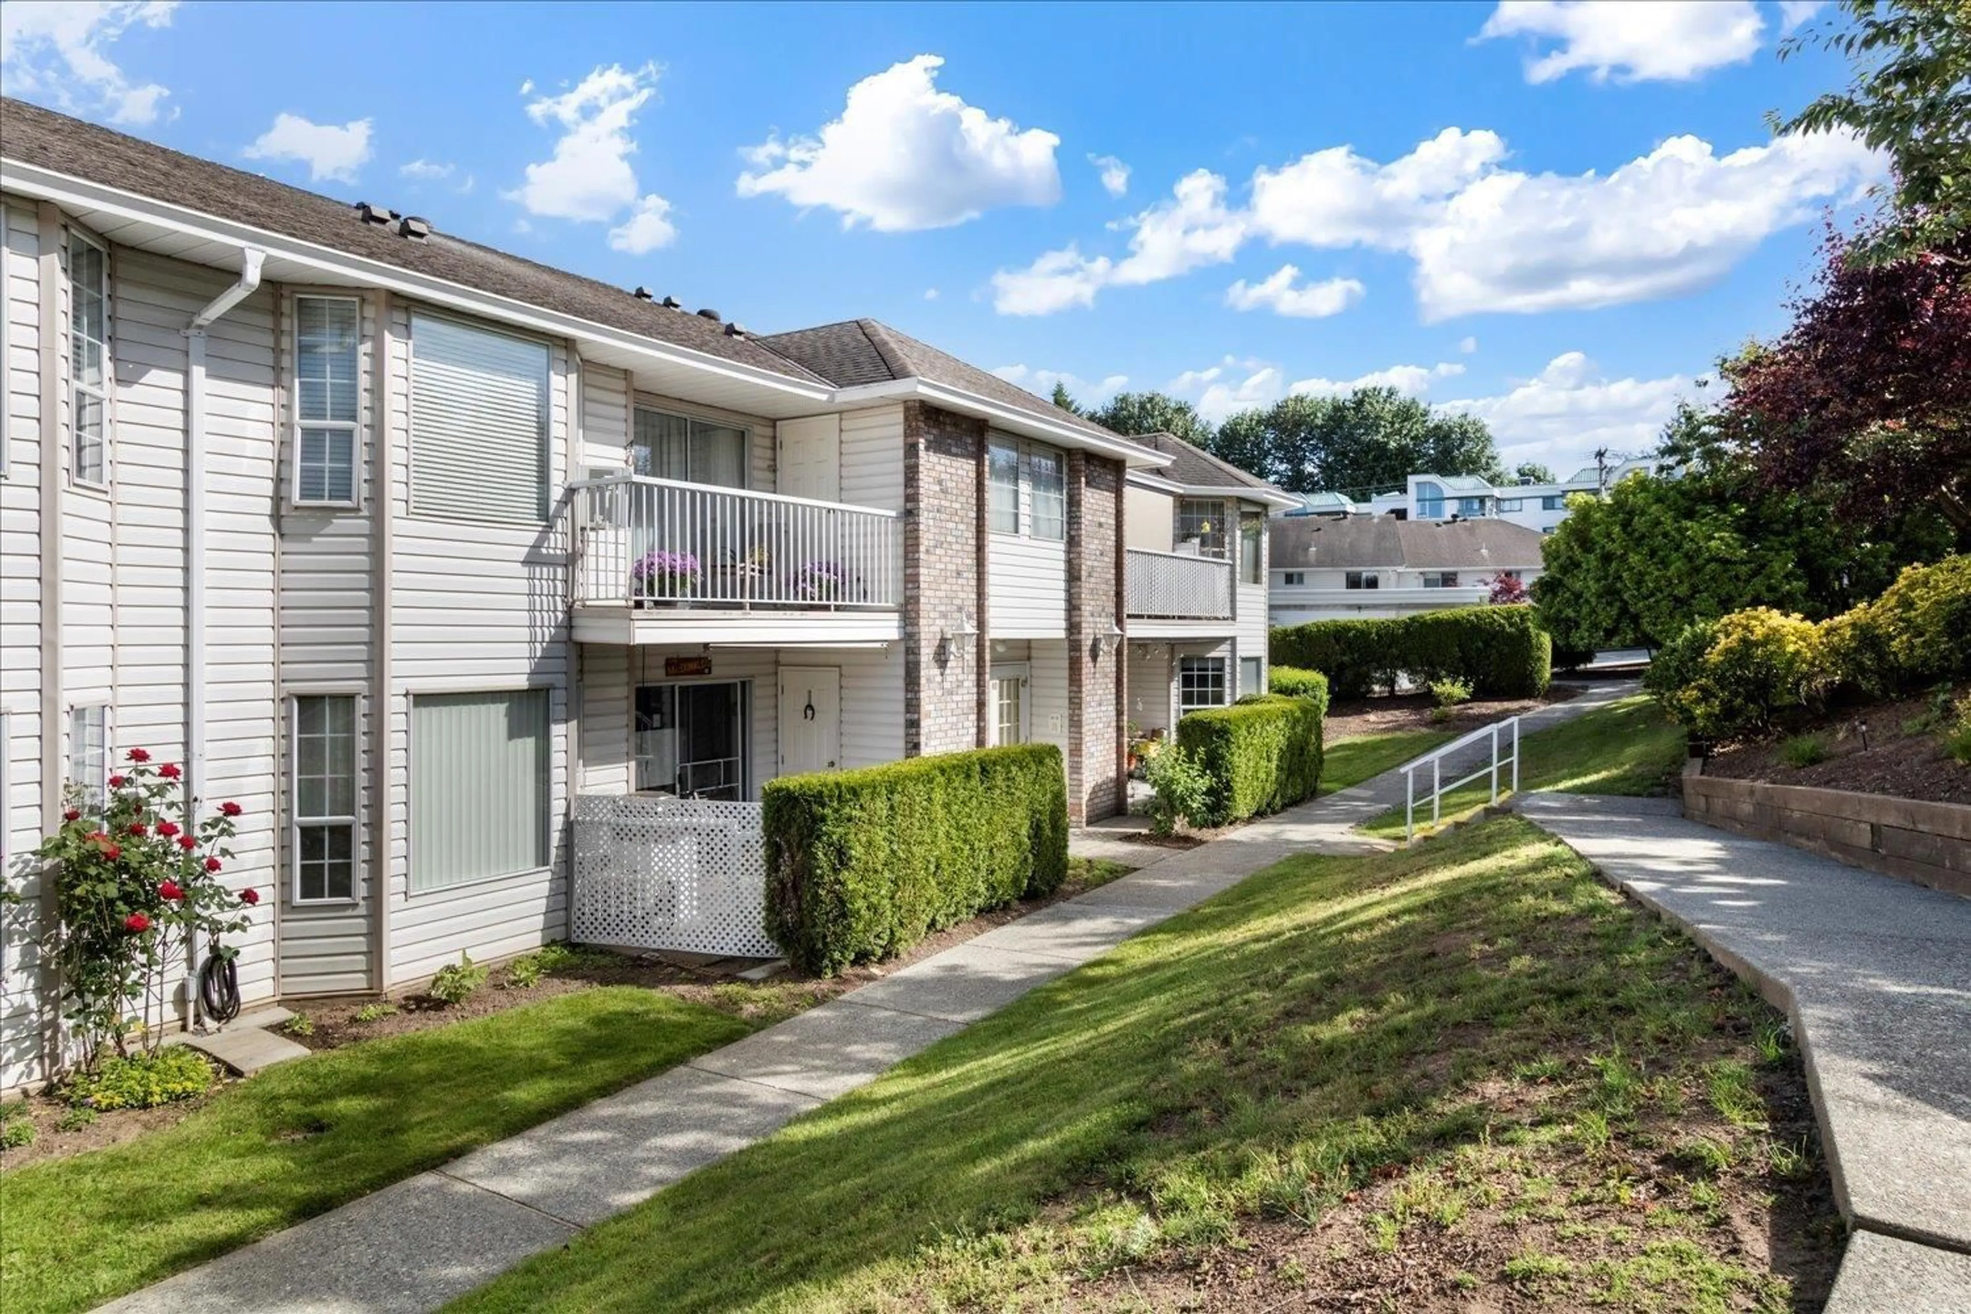
<instances>
[{"instance_id":1,"label":"white balcony railing with purple flowers behind its bars","mask_svg":"<svg viewBox=\"0 0 1971 1314\"><path fill-rule=\"evenodd\" d=\"M645 475L591 479L572 493L576 603L903 603L903 512Z\"/></svg>"}]
</instances>

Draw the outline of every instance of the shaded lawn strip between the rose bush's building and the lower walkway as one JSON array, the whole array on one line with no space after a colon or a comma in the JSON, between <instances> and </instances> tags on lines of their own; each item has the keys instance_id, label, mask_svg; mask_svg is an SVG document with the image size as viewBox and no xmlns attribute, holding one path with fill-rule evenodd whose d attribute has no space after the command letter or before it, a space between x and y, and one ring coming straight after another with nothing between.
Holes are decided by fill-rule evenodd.
<instances>
[{"instance_id":1,"label":"shaded lawn strip between the rose bush's building and the lower walkway","mask_svg":"<svg viewBox=\"0 0 1971 1314\"><path fill-rule=\"evenodd\" d=\"M164 1131L0 1174L0 1304L89 1308L749 1030L599 987L270 1068Z\"/></svg>"}]
</instances>

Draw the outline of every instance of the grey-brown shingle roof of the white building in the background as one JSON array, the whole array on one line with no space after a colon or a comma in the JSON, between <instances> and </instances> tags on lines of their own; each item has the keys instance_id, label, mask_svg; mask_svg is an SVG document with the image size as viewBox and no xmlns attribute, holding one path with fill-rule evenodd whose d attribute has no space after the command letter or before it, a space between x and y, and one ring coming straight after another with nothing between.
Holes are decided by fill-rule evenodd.
<instances>
[{"instance_id":1,"label":"grey-brown shingle roof of the white building in the background","mask_svg":"<svg viewBox=\"0 0 1971 1314\"><path fill-rule=\"evenodd\" d=\"M1510 520L1275 516L1275 569L1539 569L1537 530Z\"/></svg>"}]
</instances>

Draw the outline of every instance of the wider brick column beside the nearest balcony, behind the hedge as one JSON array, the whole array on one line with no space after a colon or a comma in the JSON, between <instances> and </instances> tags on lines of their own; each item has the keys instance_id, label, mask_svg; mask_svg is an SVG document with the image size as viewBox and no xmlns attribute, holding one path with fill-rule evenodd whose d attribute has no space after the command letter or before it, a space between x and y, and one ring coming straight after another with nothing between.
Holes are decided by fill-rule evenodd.
<instances>
[{"instance_id":1,"label":"wider brick column beside the nearest balcony, behind the hedge","mask_svg":"<svg viewBox=\"0 0 1971 1314\"><path fill-rule=\"evenodd\" d=\"M986 422L903 404L903 753L984 743ZM940 640L966 628L970 640ZM942 660L940 660L942 658Z\"/></svg>"}]
</instances>

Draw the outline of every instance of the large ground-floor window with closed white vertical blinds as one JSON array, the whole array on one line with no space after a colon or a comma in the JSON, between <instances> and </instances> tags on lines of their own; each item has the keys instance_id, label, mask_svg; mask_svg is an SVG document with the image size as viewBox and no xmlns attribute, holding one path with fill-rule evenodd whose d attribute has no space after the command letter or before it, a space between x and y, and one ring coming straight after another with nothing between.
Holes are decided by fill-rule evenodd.
<instances>
[{"instance_id":1,"label":"large ground-floor window with closed white vertical blinds","mask_svg":"<svg viewBox=\"0 0 1971 1314\"><path fill-rule=\"evenodd\" d=\"M548 865L548 691L410 699L410 888Z\"/></svg>"}]
</instances>

